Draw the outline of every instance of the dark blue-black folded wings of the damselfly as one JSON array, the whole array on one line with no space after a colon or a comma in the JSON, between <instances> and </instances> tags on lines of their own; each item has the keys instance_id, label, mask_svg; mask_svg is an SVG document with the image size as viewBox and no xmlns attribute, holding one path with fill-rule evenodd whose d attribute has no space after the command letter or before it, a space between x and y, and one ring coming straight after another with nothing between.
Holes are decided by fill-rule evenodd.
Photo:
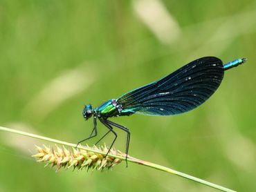
<instances>
[{"instance_id":1,"label":"dark blue-black folded wings of the damselfly","mask_svg":"<svg viewBox=\"0 0 256 192\"><path fill-rule=\"evenodd\" d=\"M131 90L117 99L122 112L142 115L176 115L205 102L221 84L221 59L196 59L152 84Z\"/></svg>"}]
</instances>

